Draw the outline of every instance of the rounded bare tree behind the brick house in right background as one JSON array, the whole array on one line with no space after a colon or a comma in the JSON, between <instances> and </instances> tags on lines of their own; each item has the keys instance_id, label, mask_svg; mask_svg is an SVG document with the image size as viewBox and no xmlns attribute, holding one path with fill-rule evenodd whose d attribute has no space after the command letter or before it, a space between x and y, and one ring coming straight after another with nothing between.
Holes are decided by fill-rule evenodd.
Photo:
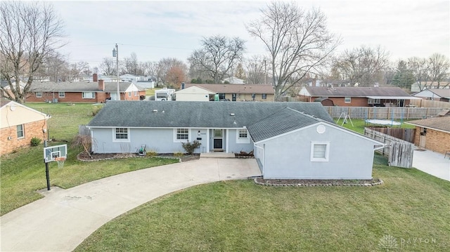
<instances>
[{"instance_id":1,"label":"rounded bare tree behind the brick house in right background","mask_svg":"<svg viewBox=\"0 0 450 252\"><path fill-rule=\"evenodd\" d=\"M377 46L361 46L345 50L335 59L334 66L349 79L350 84L372 86L383 81L383 69L389 65L389 53Z\"/></svg>"}]
</instances>

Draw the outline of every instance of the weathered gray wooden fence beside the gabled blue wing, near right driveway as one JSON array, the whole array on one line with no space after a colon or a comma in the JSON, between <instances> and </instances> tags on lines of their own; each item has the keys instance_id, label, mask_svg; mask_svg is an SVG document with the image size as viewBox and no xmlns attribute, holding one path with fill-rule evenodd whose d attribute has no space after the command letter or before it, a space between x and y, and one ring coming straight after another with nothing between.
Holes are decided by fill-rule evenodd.
<instances>
[{"instance_id":1,"label":"weathered gray wooden fence beside the gabled blue wing, near right driveway","mask_svg":"<svg viewBox=\"0 0 450 252\"><path fill-rule=\"evenodd\" d=\"M364 128L364 135L385 143L385 147L377 150L377 152L387 156L389 166L403 168L411 168L413 166L414 145L411 142L394 138L393 136L374 131L371 128Z\"/></svg>"}]
</instances>

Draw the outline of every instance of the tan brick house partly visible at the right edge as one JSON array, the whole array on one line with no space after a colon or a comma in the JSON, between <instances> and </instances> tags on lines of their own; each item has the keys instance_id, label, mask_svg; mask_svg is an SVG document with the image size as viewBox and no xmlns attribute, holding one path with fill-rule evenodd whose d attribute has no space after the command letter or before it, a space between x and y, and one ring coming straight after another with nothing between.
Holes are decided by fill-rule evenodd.
<instances>
[{"instance_id":1,"label":"tan brick house partly visible at the right edge","mask_svg":"<svg viewBox=\"0 0 450 252\"><path fill-rule=\"evenodd\" d=\"M450 150L450 117L407 121L416 126L414 145L445 154Z\"/></svg>"}]
</instances>

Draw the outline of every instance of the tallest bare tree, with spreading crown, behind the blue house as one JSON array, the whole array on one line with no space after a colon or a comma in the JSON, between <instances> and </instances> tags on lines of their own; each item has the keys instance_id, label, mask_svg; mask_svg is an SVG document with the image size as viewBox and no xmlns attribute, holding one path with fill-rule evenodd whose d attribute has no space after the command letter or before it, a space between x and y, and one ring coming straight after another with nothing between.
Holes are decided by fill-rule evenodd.
<instances>
[{"instance_id":1,"label":"tallest bare tree, with spreading crown, behind the blue house","mask_svg":"<svg viewBox=\"0 0 450 252\"><path fill-rule=\"evenodd\" d=\"M326 16L318 9L304 11L295 3L271 2L262 18L247 25L270 54L275 99L309 72L326 63L340 39L326 28Z\"/></svg>"}]
</instances>

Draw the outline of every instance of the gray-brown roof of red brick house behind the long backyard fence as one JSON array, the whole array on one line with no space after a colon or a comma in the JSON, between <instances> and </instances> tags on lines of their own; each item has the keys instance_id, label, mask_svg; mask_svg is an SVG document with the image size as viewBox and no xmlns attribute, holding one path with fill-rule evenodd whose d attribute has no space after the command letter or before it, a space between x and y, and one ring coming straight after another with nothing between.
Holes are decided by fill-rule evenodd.
<instances>
[{"instance_id":1,"label":"gray-brown roof of red brick house behind the long backyard fence","mask_svg":"<svg viewBox=\"0 0 450 252\"><path fill-rule=\"evenodd\" d=\"M326 86L307 86L305 87L311 96L326 97L368 97L368 96L402 96L409 97L408 93L398 87L326 87ZM412 98L412 97L411 97Z\"/></svg>"}]
</instances>

